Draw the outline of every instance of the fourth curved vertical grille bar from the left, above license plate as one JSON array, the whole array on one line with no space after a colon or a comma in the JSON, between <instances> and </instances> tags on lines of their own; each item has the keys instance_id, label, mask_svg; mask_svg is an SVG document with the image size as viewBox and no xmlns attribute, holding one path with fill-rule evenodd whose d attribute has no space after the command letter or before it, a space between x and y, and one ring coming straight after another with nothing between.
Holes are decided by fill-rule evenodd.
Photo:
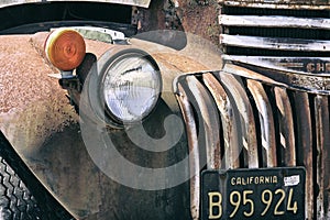
<instances>
[{"instance_id":1,"label":"fourth curved vertical grille bar from the left, above license plate","mask_svg":"<svg viewBox=\"0 0 330 220\"><path fill-rule=\"evenodd\" d=\"M237 105L238 114L235 117L237 120L240 121L238 127L240 127L239 130L241 130L241 135L239 133L239 136L242 138L240 144L244 153L244 166L249 166L250 168L258 167L255 121L252 107L243 85L232 75L223 72L219 73L218 77L226 90L230 94L232 102L234 100L234 103Z\"/></svg>"}]
</instances>

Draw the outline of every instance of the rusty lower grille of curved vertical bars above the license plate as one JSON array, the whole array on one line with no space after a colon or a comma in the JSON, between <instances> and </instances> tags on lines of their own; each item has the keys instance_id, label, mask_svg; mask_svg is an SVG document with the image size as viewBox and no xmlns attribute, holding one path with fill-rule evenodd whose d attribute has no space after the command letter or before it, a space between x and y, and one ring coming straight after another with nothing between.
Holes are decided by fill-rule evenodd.
<instances>
[{"instance_id":1,"label":"rusty lower grille of curved vertical bars above the license plate","mask_svg":"<svg viewBox=\"0 0 330 220\"><path fill-rule=\"evenodd\" d=\"M305 166L306 218L329 218L329 95L237 69L243 70L251 77L219 72L178 79L189 146L199 146L190 168L202 168L204 160L204 168L211 169ZM198 218L196 189L199 176L191 179L191 210Z\"/></svg>"}]
</instances>

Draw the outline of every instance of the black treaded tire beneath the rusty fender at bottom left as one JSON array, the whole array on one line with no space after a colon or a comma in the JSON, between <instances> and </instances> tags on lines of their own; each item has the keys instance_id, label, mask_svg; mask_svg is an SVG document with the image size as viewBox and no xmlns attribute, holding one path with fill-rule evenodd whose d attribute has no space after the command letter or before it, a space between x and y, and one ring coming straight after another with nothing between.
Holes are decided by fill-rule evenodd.
<instances>
[{"instance_id":1,"label":"black treaded tire beneath the rusty fender at bottom left","mask_svg":"<svg viewBox=\"0 0 330 220\"><path fill-rule=\"evenodd\" d=\"M73 219L36 179L1 132L0 219Z\"/></svg>"}]
</instances>

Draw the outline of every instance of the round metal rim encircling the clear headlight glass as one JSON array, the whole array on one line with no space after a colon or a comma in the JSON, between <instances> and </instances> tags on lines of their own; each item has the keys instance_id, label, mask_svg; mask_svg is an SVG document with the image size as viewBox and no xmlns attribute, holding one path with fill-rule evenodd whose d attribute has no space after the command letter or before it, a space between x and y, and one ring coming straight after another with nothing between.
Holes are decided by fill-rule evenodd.
<instances>
[{"instance_id":1,"label":"round metal rim encircling the clear headlight glass","mask_svg":"<svg viewBox=\"0 0 330 220\"><path fill-rule=\"evenodd\" d=\"M112 52L112 53L111 53ZM110 57L109 57L110 55ZM106 61L100 59L100 64L102 68L99 72L99 82L98 82L98 99L99 99L99 103L101 105L102 109L103 109L103 114L102 118L107 123L110 123L114 127L119 127L122 128L124 124L134 124L138 122L143 121L145 118L147 118L156 108L158 101L160 101L160 97L162 94L162 88L163 88L163 84L162 84L162 76L161 76L161 72L160 72L160 67L157 65L157 63L155 62L155 59L145 51L142 51L140 48L120 48L118 50L110 50L108 55L106 55L107 58ZM107 103L106 97L105 97L105 80L107 78L107 75L109 74L110 69L117 65L118 63L127 59L127 58L141 58L145 62L148 63L148 65L151 65L153 67L154 74L156 74L156 77L158 79L157 84L158 84L158 89L157 89L157 96L155 98L155 101L153 102L153 105L150 106L150 108L147 109L147 111L144 111L140 117L136 117L134 120L125 120L125 119L121 119L118 116L116 116L116 113L112 112L112 110L109 108L109 105Z\"/></svg>"}]
</instances>

